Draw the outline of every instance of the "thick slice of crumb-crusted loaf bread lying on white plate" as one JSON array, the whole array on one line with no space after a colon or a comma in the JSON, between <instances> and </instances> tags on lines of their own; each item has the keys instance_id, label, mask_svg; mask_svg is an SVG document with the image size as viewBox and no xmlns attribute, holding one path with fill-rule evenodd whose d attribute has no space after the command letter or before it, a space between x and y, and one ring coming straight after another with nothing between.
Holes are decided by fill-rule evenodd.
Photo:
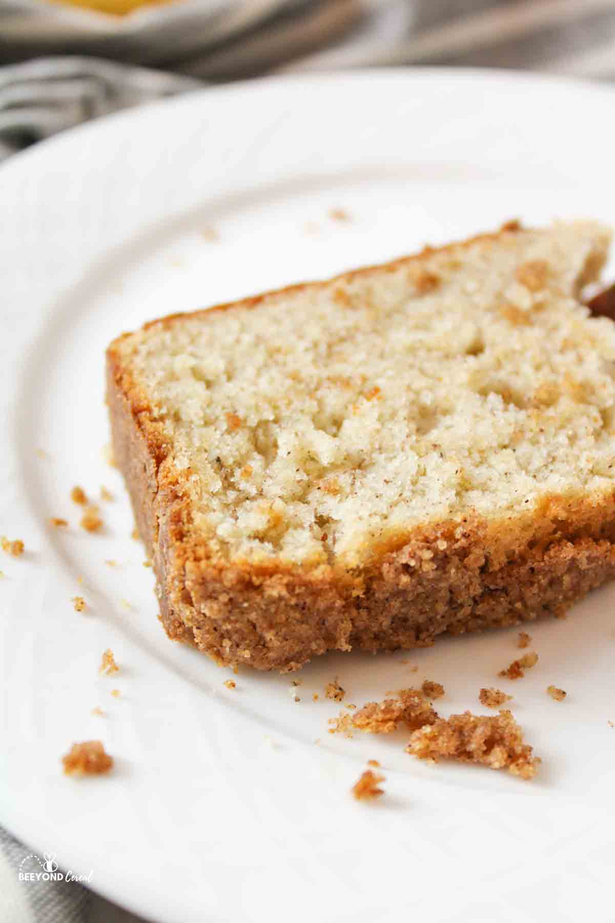
<instances>
[{"instance_id":1,"label":"thick slice of crumb-crusted loaf bread lying on white plate","mask_svg":"<svg viewBox=\"0 0 615 923\"><path fill-rule=\"evenodd\" d=\"M292 670L559 614L615 575L609 232L512 223L124 334L114 455L171 636Z\"/></svg>"}]
</instances>

